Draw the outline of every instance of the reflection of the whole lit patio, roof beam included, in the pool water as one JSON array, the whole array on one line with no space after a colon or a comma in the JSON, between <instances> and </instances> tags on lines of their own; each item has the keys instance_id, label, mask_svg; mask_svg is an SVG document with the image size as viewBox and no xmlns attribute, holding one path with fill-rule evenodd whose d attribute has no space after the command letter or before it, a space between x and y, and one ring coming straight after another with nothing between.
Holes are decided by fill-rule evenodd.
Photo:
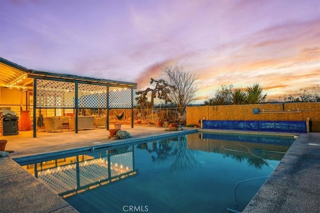
<instances>
[{"instance_id":1,"label":"reflection of the whole lit patio, roof beam included, in the pool water","mask_svg":"<svg viewBox=\"0 0 320 213\"><path fill-rule=\"evenodd\" d=\"M62 198L137 174L133 146L85 152L22 167Z\"/></svg>"}]
</instances>

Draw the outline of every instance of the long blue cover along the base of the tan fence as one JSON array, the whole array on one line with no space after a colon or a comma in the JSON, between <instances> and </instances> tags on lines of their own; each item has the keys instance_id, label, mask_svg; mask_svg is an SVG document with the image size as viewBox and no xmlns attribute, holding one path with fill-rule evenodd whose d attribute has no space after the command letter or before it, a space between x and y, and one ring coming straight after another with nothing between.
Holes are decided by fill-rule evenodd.
<instances>
[{"instance_id":1,"label":"long blue cover along the base of the tan fence","mask_svg":"<svg viewBox=\"0 0 320 213\"><path fill-rule=\"evenodd\" d=\"M203 129L245 130L259 132L306 133L305 121L223 121L203 120Z\"/></svg>"}]
</instances>

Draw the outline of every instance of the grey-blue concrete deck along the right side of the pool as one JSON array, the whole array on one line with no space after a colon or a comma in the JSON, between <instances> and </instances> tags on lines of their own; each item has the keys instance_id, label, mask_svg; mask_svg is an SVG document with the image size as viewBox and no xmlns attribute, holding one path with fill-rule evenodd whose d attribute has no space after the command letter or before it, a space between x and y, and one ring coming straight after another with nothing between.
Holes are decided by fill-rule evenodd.
<instances>
[{"instance_id":1,"label":"grey-blue concrete deck along the right side of the pool","mask_svg":"<svg viewBox=\"0 0 320 213\"><path fill-rule=\"evenodd\" d=\"M320 213L320 133L298 136L243 213Z\"/></svg>"}]
</instances>

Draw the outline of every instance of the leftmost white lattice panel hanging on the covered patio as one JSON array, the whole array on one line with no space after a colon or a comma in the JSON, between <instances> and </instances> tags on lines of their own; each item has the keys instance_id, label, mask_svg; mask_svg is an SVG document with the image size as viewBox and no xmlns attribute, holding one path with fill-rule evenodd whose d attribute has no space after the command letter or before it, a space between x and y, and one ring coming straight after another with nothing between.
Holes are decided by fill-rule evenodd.
<instances>
[{"instance_id":1,"label":"leftmost white lattice panel hanging on the covered patio","mask_svg":"<svg viewBox=\"0 0 320 213\"><path fill-rule=\"evenodd\" d=\"M75 83L36 79L36 107L74 108Z\"/></svg>"}]
</instances>

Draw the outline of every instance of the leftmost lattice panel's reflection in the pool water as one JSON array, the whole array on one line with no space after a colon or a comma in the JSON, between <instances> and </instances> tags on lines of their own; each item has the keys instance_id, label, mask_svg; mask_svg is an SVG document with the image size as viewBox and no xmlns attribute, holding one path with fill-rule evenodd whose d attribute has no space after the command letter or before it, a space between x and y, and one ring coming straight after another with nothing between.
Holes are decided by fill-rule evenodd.
<instances>
[{"instance_id":1,"label":"leftmost lattice panel's reflection in the pool water","mask_svg":"<svg viewBox=\"0 0 320 213\"><path fill-rule=\"evenodd\" d=\"M74 190L76 188L76 165L38 171L38 180L53 190L55 194Z\"/></svg>"}]
</instances>

